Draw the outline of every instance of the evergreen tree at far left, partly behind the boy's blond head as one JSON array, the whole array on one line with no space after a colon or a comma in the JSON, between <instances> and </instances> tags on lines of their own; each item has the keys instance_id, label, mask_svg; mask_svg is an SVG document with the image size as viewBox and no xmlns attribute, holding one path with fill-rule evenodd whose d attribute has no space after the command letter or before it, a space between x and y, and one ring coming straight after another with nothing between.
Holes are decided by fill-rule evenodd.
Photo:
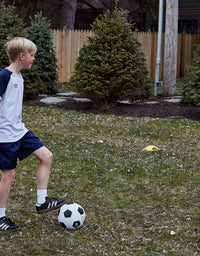
<instances>
[{"instance_id":1,"label":"evergreen tree at far left, partly behind the boy's blond head","mask_svg":"<svg viewBox=\"0 0 200 256\"><path fill-rule=\"evenodd\" d=\"M15 15L13 5L0 3L0 69L9 65L9 59L5 51L5 43L9 38L24 36L22 20Z\"/></svg>"}]
</instances>

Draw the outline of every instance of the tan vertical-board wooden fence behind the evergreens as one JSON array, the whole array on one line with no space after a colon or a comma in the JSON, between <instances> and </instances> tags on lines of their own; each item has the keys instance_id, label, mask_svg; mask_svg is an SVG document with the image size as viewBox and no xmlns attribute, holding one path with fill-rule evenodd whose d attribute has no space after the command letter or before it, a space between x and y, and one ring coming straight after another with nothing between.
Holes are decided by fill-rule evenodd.
<instances>
[{"instance_id":1,"label":"tan vertical-board wooden fence behind the evergreens","mask_svg":"<svg viewBox=\"0 0 200 256\"><path fill-rule=\"evenodd\" d=\"M59 82L69 81L74 64L77 61L80 48L87 44L88 36L93 36L90 30L52 30L53 44L58 59ZM145 54L146 64L152 78L155 77L156 55L157 55L157 33L136 33L141 49ZM160 75L163 76L164 61L164 39L162 40L162 56ZM184 77L197 44L200 44L200 35L179 34L178 35L178 56L177 56L177 77Z\"/></svg>"}]
</instances>

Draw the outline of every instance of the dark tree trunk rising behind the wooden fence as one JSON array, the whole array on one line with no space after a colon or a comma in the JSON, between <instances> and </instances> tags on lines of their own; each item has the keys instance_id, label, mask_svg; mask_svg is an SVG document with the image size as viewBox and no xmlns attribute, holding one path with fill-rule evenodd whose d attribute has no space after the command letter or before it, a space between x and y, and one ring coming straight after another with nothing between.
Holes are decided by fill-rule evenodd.
<instances>
[{"instance_id":1,"label":"dark tree trunk rising behind the wooden fence","mask_svg":"<svg viewBox=\"0 0 200 256\"><path fill-rule=\"evenodd\" d=\"M74 29L77 0L64 0L62 7L61 27L69 30Z\"/></svg>"}]
</instances>

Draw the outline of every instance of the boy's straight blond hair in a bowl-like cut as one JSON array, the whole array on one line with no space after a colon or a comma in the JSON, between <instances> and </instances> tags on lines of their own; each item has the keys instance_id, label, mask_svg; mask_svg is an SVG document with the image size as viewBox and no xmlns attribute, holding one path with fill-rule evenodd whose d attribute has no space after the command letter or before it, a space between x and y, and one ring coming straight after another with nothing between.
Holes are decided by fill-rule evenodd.
<instances>
[{"instance_id":1,"label":"boy's straight blond hair in a bowl-like cut","mask_svg":"<svg viewBox=\"0 0 200 256\"><path fill-rule=\"evenodd\" d=\"M36 45L24 37L14 37L5 44L6 52L11 62L14 62L20 53L34 53Z\"/></svg>"}]
</instances>

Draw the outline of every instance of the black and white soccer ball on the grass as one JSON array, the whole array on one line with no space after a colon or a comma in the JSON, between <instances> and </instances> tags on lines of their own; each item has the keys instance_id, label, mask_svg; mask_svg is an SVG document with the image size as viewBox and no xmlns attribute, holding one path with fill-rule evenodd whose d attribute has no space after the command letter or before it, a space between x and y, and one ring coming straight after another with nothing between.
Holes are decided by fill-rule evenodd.
<instances>
[{"instance_id":1,"label":"black and white soccer ball on the grass","mask_svg":"<svg viewBox=\"0 0 200 256\"><path fill-rule=\"evenodd\" d=\"M85 221L85 211L77 203L66 203L58 213L58 222L66 229L78 229Z\"/></svg>"}]
</instances>

